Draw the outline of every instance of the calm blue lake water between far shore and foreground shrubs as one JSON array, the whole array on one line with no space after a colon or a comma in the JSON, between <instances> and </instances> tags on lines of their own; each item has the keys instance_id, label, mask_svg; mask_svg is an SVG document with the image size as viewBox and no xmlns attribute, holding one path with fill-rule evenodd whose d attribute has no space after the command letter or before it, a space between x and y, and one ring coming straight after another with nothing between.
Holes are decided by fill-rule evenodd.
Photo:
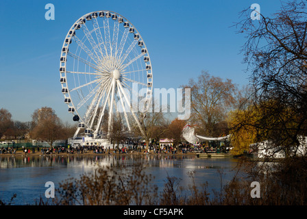
<instances>
[{"instance_id":1,"label":"calm blue lake water between far shore and foreground shrubs","mask_svg":"<svg viewBox=\"0 0 307 219\"><path fill-rule=\"evenodd\" d=\"M153 183L163 188L167 175L181 179L180 185L191 185L188 172L195 171L195 183L208 181L209 190L219 190L219 171L223 170L223 184L229 181L238 164L232 158L197 158L188 155L75 155L39 157L0 157L0 200L6 203L16 193L12 205L34 205L35 199L45 197L45 183L52 181L56 188L65 179L86 172L93 172L98 166L132 166L138 159L145 161L146 172L153 175Z\"/></svg>"}]
</instances>

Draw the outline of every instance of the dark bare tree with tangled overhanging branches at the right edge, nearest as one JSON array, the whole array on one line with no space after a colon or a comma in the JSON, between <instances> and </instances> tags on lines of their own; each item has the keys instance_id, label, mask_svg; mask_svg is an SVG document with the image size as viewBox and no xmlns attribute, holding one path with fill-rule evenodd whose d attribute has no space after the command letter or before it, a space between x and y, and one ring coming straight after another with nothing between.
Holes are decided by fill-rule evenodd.
<instances>
[{"instance_id":1,"label":"dark bare tree with tangled overhanging branches at the right edge, nearest","mask_svg":"<svg viewBox=\"0 0 307 219\"><path fill-rule=\"evenodd\" d=\"M237 24L247 38L242 52L255 90L253 110L258 112L249 125L275 148L296 151L299 136L307 136L305 1L282 2L280 11L269 17L260 14L259 21L252 21L249 13L244 10Z\"/></svg>"}]
</instances>

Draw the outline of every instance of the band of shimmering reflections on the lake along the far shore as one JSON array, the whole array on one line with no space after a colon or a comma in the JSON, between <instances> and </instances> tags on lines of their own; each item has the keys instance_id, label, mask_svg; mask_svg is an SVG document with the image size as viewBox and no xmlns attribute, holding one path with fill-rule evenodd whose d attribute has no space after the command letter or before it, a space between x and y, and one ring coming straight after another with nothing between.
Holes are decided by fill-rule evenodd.
<instances>
[{"instance_id":1,"label":"band of shimmering reflections on the lake along the far shore","mask_svg":"<svg viewBox=\"0 0 307 219\"><path fill-rule=\"evenodd\" d=\"M192 160L192 163L183 163L183 160ZM24 167L67 167L77 168L97 168L98 166L131 166L135 162L143 161L147 166L156 166L160 168L230 168L234 165L227 166L230 159L207 159L210 162L204 162L205 159L199 159L191 155L78 155L78 156L33 156L33 157L0 157L0 168L24 168ZM202 162L195 162L202 161ZM226 162L223 162L226 161ZM236 162L236 159L232 159ZM186 164L186 166L183 166ZM198 165L197 164L203 164ZM205 165L208 164L208 165ZM214 166L217 165L217 166Z\"/></svg>"}]
</instances>

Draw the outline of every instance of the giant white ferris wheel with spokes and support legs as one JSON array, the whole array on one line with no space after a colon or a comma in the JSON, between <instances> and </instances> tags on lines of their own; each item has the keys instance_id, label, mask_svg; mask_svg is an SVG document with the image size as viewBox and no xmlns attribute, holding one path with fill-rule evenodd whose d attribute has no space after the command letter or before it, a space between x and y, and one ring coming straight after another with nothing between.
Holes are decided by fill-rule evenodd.
<instances>
[{"instance_id":1,"label":"giant white ferris wheel with spokes and support legs","mask_svg":"<svg viewBox=\"0 0 307 219\"><path fill-rule=\"evenodd\" d=\"M73 138L80 130L94 138L106 137L114 120L121 120L127 131L132 123L143 131L131 95L145 90L143 110L148 110L152 76L147 47L130 21L105 10L77 19L60 57L64 103L79 122Z\"/></svg>"}]
</instances>

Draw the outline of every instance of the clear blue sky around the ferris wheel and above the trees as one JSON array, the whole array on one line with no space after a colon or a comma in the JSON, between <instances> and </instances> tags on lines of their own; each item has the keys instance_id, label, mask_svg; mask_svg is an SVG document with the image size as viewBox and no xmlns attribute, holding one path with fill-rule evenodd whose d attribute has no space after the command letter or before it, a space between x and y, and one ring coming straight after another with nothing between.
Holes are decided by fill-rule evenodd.
<instances>
[{"instance_id":1,"label":"clear blue sky around the ferris wheel and above the trees","mask_svg":"<svg viewBox=\"0 0 307 219\"><path fill-rule=\"evenodd\" d=\"M54 21L45 19L47 3L55 7ZM138 29L151 57L153 88L178 88L201 70L246 85L239 53L245 38L231 26L252 3L265 15L280 8L280 1L254 0L1 0L0 108L29 121L34 110L48 106L71 123L60 92L60 50L71 25L97 10L121 14Z\"/></svg>"}]
</instances>

